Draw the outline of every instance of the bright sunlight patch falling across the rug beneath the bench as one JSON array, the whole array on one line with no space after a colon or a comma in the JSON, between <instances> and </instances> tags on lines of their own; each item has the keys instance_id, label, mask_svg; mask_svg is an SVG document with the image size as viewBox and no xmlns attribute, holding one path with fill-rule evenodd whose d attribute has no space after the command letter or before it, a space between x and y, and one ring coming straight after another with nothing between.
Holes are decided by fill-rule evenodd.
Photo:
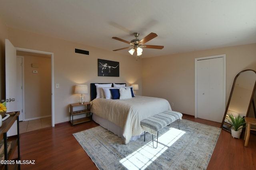
<instances>
[{"instance_id":1,"label":"bright sunlight patch falling across the rug beneath the bench","mask_svg":"<svg viewBox=\"0 0 256 170\"><path fill-rule=\"evenodd\" d=\"M153 148L152 140L145 142L145 145L138 150L134 151L132 154L126 156L120 163L123 164L129 170L144 170L147 168L158 156L160 156L165 150L168 149L172 144L174 144L182 135L186 133L185 131L175 129L170 127L164 134L159 134L158 136L158 147ZM150 135L146 133L146 135ZM152 139L152 137L150 137ZM156 136L154 136L154 146L156 147Z\"/></svg>"}]
</instances>

